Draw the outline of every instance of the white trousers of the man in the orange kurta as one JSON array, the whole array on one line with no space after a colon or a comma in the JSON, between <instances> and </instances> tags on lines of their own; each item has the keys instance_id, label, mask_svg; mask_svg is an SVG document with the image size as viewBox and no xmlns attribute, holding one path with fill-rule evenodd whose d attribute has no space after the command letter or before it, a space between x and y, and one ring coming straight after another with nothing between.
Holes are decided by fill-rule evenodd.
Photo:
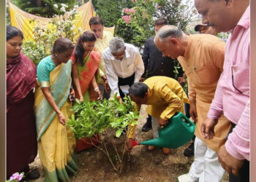
<instances>
[{"instance_id":1,"label":"white trousers of the man in the orange kurta","mask_svg":"<svg viewBox=\"0 0 256 182\"><path fill-rule=\"evenodd\" d=\"M225 170L218 161L216 151L209 149L203 141L195 138L195 160L192 163L189 176L199 182L219 182Z\"/></svg>"}]
</instances>

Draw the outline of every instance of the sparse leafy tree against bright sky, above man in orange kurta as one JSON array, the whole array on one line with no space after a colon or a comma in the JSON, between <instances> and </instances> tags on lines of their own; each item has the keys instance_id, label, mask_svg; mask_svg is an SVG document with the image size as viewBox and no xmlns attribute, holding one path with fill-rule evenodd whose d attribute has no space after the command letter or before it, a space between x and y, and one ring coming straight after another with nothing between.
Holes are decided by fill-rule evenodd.
<instances>
[{"instance_id":1,"label":"sparse leafy tree against bright sky, above man in orange kurta","mask_svg":"<svg viewBox=\"0 0 256 182\"><path fill-rule=\"evenodd\" d=\"M185 31L193 15L190 1L184 4L182 0L154 0L157 3L156 17L165 17L170 25L176 25Z\"/></svg>"}]
</instances>

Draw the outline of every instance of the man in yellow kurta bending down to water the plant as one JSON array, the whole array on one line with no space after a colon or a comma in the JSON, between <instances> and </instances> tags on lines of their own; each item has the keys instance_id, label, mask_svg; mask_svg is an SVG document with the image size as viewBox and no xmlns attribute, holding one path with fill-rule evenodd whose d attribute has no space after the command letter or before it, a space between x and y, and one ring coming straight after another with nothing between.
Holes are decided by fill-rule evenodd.
<instances>
[{"instance_id":1,"label":"man in yellow kurta bending down to water the plant","mask_svg":"<svg viewBox=\"0 0 256 182\"><path fill-rule=\"evenodd\" d=\"M140 109L141 104L148 105L146 111L152 116L153 137L158 138L157 126L167 124L176 112L184 113L184 103L189 103L186 93L181 85L167 76L152 76L143 83L132 84L129 88L129 96ZM135 128L128 130L128 147L134 138ZM148 150L153 150L154 146L148 146ZM163 148L164 154L169 154L170 149Z\"/></svg>"}]
</instances>

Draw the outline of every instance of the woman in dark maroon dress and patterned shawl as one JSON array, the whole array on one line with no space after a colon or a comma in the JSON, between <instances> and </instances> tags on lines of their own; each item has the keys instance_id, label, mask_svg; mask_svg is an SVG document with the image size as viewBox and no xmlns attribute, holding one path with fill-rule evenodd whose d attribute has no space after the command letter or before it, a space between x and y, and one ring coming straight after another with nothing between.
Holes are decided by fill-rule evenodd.
<instances>
[{"instance_id":1,"label":"woman in dark maroon dress and patterned shawl","mask_svg":"<svg viewBox=\"0 0 256 182\"><path fill-rule=\"evenodd\" d=\"M39 178L38 170L29 170L37 156L37 132L34 116L36 67L21 51L23 33L7 26L7 178L24 172L26 179Z\"/></svg>"}]
</instances>

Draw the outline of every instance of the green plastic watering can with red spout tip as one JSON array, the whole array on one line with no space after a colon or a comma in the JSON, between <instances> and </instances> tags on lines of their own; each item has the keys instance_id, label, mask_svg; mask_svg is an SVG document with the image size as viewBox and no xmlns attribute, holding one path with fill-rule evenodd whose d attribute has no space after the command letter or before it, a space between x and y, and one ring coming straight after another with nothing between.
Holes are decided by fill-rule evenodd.
<instances>
[{"instance_id":1,"label":"green plastic watering can with red spout tip","mask_svg":"<svg viewBox=\"0 0 256 182\"><path fill-rule=\"evenodd\" d=\"M159 138L140 143L132 141L132 146L141 144L175 149L183 146L194 136L195 124L181 112L176 113L168 121L168 124L158 131Z\"/></svg>"}]
</instances>

